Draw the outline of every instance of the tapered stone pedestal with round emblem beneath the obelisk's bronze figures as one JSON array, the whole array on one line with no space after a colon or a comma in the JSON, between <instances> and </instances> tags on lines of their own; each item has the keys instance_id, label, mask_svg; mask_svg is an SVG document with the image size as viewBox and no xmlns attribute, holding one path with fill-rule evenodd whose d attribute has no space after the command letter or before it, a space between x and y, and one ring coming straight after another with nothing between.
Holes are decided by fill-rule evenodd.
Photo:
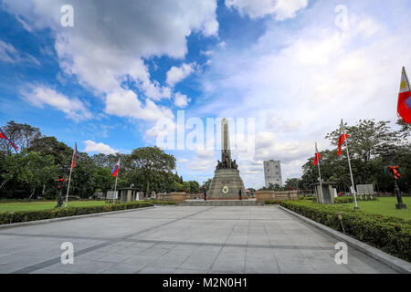
<instances>
[{"instance_id":1,"label":"tapered stone pedestal with round emblem beneath the obelisk's bronze figures","mask_svg":"<svg viewBox=\"0 0 411 292\"><path fill-rule=\"evenodd\" d=\"M207 192L207 200L238 200L239 189L242 199L246 199L246 189L238 170L219 169L214 173Z\"/></svg>"}]
</instances>

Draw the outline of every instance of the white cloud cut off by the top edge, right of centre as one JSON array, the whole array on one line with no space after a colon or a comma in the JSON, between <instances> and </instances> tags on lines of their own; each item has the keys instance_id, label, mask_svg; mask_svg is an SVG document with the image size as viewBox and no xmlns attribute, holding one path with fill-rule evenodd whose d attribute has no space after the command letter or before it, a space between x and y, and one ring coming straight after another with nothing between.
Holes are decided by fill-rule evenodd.
<instances>
[{"instance_id":1,"label":"white cloud cut off by the top edge, right of centre","mask_svg":"<svg viewBox=\"0 0 411 292\"><path fill-rule=\"evenodd\" d=\"M276 20L293 18L308 5L308 0L226 0L227 7L238 10L241 16L258 18L274 16Z\"/></svg>"}]
</instances>

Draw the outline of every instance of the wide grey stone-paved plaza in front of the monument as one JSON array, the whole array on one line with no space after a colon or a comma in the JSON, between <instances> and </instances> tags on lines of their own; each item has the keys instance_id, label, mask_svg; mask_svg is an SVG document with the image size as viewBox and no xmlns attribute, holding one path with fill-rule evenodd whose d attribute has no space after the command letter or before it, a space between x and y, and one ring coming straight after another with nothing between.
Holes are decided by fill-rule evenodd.
<instances>
[{"instance_id":1,"label":"wide grey stone-paved plaza in front of the monument","mask_svg":"<svg viewBox=\"0 0 411 292\"><path fill-rule=\"evenodd\" d=\"M0 273L395 273L337 242L277 206L156 206L0 229Z\"/></svg>"}]
</instances>

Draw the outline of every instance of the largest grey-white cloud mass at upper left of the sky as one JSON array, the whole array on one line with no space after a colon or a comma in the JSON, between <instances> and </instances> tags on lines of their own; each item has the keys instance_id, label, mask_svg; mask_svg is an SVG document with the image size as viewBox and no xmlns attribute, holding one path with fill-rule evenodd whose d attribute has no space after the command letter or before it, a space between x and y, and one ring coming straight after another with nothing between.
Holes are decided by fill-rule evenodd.
<instances>
[{"instance_id":1,"label":"largest grey-white cloud mass at upper left of the sky","mask_svg":"<svg viewBox=\"0 0 411 292\"><path fill-rule=\"evenodd\" d=\"M153 80L144 59L184 58L187 36L193 32L217 36L218 31L216 0L144 0L121 5L111 0L73 0L73 27L60 26L59 11L65 4L65 0L5 0L2 7L28 31L50 28L56 36L60 68L75 75L81 85L94 93L103 98L107 95L108 112L120 116L155 120L154 113L167 111L153 101L170 99L172 90ZM175 84L176 79L170 82ZM131 93L121 92L124 84L131 83L142 92L140 98L146 99L145 107ZM126 99L116 99L116 94ZM127 105L126 100L131 104Z\"/></svg>"}]
</instances>

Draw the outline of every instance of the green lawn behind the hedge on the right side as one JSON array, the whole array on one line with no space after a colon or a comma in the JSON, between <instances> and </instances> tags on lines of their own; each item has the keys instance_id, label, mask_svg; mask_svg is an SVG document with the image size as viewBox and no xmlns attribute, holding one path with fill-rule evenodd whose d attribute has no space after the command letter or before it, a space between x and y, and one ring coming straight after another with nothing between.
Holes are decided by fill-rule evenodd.
<instances>
[{"instance_id":1,"label":"green lawn behind the hedge on the right side","mask_svg":"<svg viewBox=\"0 0 411 292\"><path fill-rule=\"evenodd\" d=\"M358 201L357 203L360 210L366 213L390 215L411 220L411 197L403 197L403 203L408 208L406 210L395 209L396 197L378 198L378 201ZM341 205L350 208L354 206L353 203L342 203Z\"/></svg>"}]
</instances>

